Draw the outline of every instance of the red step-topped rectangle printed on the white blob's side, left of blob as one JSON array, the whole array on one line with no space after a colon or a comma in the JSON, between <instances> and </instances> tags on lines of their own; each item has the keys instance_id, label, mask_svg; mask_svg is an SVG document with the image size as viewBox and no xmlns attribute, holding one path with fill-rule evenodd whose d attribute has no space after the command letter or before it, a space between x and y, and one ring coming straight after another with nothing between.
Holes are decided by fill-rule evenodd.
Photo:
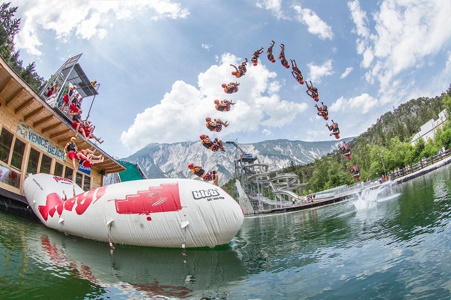
<instances>
[{"instance_id":1,"label":"red step-topped rectangle printed on the white blob's side, left of blob","mask_svg":"<svg viewBox=\"0 0 451 300\"><path fill-rule=\"evenodd\" d=\"M149 186L125 199L115 199L117 213L149 214L151 212L177 211L181 209L178 183Z\"/></svg>"}]
</instances>

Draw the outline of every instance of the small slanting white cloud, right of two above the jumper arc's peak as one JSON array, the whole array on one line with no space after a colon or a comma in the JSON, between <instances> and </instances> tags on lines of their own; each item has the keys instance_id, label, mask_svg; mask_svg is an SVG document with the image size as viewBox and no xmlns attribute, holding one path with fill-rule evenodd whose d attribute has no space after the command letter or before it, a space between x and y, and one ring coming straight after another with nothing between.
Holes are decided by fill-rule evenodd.
<instances>
[{"instance_id":1,"label":"small slanting white cloud, right of two above the jumper arc's peak","mask_svg":"<svg viewBox=\"0 0 451 300\"><path fill-rule=\"evenodd\" d=\"M310 8L302 8L301 5L293 5L292 8L297 12L296 19L306 24L310 33L317 35L321 39L332 39L334 36L332 27L323 21L315 11Z\"/></svg>"}]
</instances>

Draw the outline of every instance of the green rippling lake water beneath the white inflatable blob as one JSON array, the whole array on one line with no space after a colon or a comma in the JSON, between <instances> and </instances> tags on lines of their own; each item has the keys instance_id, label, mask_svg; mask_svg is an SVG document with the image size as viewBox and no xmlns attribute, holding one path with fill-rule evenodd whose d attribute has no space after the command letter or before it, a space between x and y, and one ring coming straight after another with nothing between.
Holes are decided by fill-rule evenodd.
<instances>
[{"instance_id":1,"label":"green rippling lake water beneath the white inflatable blob","mask_svg":"<svg viewBox=\"0 0 451 300\"><path fill-rule=\"evenodd\" d=\"M347 202L246 218L229 245L157 249L0 213L0 298L451 298L451 167Z\"/></svg>"}]
</instances>

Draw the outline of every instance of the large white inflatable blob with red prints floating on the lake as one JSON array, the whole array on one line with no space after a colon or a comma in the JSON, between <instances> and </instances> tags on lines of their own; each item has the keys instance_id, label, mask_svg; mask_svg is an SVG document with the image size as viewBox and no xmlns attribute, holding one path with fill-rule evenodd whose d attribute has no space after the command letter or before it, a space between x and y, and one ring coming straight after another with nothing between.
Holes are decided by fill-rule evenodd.
<instances>
[{"instance_id":1,"label":"large white inflatable blob with red prints floating on the lake","mask_svg":"<svg viewBox=\"0 0 451 300\"><path fill-rule=\"evenodd\" d=\"M67 196L75 196L65 200ZM83 191L72 180L35 174L24 181L47 226L95 240L155 247L213 247L240 230L244 213L224 190L192 179L146 179Z\"/></svg>"}]
</instances>

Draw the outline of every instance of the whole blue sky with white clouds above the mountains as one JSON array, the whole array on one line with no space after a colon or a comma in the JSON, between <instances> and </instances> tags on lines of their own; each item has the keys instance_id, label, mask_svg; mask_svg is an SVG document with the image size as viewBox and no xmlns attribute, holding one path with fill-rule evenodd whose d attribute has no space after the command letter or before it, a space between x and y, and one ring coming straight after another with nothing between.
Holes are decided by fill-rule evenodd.
<instances>
[{"instance_id":1,"label":"whole blue sky with white clouds above the mountains","mask_svg":"<svg viewBox=\"0 0 451 300\"><path fill-rule=\"evenodd\" d=\"M75 5L75 3L77 5ZM196 140L204 118L231 125L217 136L239 142L326 140L315 102L266 48L286 45L318 87L341 137L365 131L383 112L451 81L447 0L380 1L15 1L17 48L48 78L69 57L97 80L90 119L102 148L127 156L149 142ZM226 95L230 63L264 46L257 67ZM215 98L233 99L216 112ZM86 102L84 103L85 105ZM84 107L86 110L88 107Z\"/></svg>"}]
</instances>

